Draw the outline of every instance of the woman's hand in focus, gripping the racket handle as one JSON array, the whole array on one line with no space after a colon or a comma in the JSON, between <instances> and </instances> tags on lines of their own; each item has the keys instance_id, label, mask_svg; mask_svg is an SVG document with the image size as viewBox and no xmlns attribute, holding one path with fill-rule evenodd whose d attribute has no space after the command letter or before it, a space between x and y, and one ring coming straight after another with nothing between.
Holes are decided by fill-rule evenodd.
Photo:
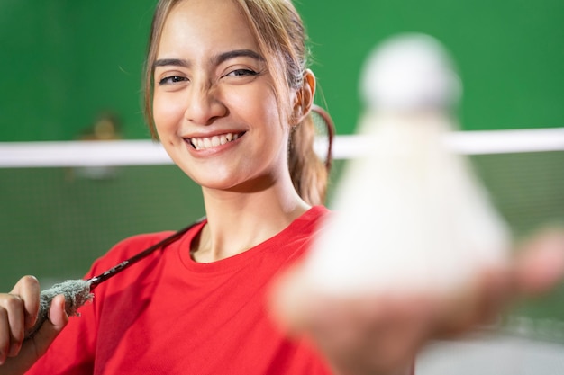
<instances>
[{"instance_id":1,"label":"woman's hand in focus, gripping the racket handle","mask_svg":"<svg viewBox=\"0 0 564 375\"><path fill-rule=\"evenodd\" d=\"M65 299L57 296L51 302L49 319L32 338L24 339L37 319L40 293L37 279L24 276L10 293L0 294L0 375L29 370L67 326Z\"/></svg>"}]
</instances>

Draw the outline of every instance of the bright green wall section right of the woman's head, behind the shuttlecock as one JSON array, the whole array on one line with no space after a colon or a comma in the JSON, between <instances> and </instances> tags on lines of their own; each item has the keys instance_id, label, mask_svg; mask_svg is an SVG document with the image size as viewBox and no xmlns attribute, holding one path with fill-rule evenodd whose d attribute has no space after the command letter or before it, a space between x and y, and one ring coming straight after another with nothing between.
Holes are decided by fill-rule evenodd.
<instances>
[{"instance_id":1,"label":"bright green wall section right of the woman's head, behind the shuttlecock","mask_svg":"<svg viewBox=\"0 0 564 375\"><path fill-rule=\"evenodd\" d=\"M564 2L561 0L302 1L314 66L342 132L360 110L363 59L400 32L429 33L450 50L464 85L462 129L561 127Z\"/></svg>"}]
</instances>

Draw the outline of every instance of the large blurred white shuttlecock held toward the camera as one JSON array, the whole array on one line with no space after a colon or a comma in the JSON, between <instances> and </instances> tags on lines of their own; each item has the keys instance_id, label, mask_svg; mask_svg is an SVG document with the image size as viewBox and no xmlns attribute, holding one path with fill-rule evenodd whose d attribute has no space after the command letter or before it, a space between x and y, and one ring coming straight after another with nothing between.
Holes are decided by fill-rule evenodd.
<instances>
[{"instance_id":1,"label":"large blurred white shuttlecock held toward the camera","mask_svg":"<svg viewBox=\"0 0 564 375\"><path fill-rule=\"evenodd\" d=\"M359 128L373 144L345 169L305 280L335 295L456 290L504 263L511 242L468 161L443 142L458 78L421 35L388 41L365 72Z\"/></svg>"}]
</instances>

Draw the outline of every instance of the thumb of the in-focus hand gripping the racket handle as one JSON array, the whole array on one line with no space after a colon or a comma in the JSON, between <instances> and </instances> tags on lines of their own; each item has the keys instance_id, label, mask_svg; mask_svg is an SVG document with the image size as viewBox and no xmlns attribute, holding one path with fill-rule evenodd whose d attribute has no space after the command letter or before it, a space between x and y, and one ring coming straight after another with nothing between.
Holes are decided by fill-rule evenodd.
<instances>
[{"instance_id":1,"label":"thumb of the in-focus hand gripping the racket handle","mask_svg":"<svg viewBox=\"0 0 564 375\"><path fill-rule=\"evenodd\" d=\"M0 366L0 375L20 375L28 371L33 363L37 362L47 352L50 344L60 331L67 326L67 323L65 297L63 295L56 296L51 301L49 319L43 323L32 338L23 342L22 349L16 357L8 358L5 364Z\"/></svg>"}]
</instances>

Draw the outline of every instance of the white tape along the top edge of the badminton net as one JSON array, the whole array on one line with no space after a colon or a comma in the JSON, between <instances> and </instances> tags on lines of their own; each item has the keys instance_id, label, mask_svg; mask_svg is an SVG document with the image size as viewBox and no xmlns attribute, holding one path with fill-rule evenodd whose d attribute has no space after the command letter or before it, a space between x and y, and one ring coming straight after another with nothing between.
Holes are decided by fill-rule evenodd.
<instances>
[{"instance_id":1,"label":"white tape along the top edge of the badminton net","mask_svg":"<svg viewBox=\"0 0 564 375\"><path fill-rule=\"evenodd\" d=\"M564 128L452 132L445 142L466 155L564 150ZM368 147L362 136L337 136L333 158L350 159ZM315 145L324 152L323 140ZM167 165L159 143L147 140L0 142L0 167Z\"/></svg>"}]
</instances>

